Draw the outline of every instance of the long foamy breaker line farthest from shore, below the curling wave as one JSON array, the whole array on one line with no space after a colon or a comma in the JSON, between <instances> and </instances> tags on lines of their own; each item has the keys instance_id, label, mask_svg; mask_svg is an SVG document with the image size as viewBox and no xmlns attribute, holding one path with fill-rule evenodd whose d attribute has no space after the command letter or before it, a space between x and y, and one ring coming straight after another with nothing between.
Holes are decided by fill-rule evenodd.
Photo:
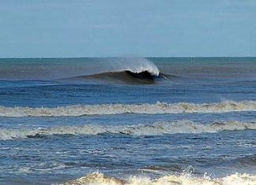
<instances>
[{"instance_id":1,"label":"long foamy breaker line farthest from shore, below the curling wave","mask_svg":"<svg viewBox=\"0 0 256 185\"><path fill-rule=\"evenodd\" d=\"M224 101L219 103L175 103L156 104L102 104L68 105L55 108L6 107L0 106L0 117L81 117L86 115L108 115L122 113L165 114L165 113L229 113L256 111L256 101Z\"/></svg>"}]
</instances>

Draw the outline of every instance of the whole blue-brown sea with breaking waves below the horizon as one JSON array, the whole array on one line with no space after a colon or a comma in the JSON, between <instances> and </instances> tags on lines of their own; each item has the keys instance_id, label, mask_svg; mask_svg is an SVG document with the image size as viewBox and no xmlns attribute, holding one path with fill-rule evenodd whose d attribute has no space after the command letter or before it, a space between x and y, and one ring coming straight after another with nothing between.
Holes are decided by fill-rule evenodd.
<instances>
[{"instance_id":1,"label":"whole blue-brown sea with breaking waves below the horizon","mask_svg":"<svg viewBox=\"0 0 256 185\"><path fill-rule=\"evenodd\" d=\"M256 184L256 57L0 59L0 184Z\"/></svg>"}]
</instances>

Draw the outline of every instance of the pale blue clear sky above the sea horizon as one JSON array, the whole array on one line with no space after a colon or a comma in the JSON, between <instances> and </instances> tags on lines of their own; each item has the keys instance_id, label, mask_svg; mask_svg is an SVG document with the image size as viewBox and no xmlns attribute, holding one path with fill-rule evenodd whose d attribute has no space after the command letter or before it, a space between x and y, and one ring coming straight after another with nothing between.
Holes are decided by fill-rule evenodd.
<instances>
[{"instance_id":1,"label":"pale blue clear sky above the sea horizon","mask_svg":"<svg viewBox=\"0 0 256 185\"><path fill-rule=\"evenodd\" d=\"M256 56L254 0L1 0L0 57Z\"/></svg>"}]
</instances>

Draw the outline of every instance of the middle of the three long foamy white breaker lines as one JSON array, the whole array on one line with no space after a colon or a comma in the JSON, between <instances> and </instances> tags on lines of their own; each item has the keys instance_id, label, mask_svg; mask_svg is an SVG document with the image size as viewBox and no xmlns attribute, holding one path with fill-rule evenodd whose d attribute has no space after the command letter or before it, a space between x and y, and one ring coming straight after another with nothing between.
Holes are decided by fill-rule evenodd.
<instances>
[{"instance_id":1,"label":"middle of the three long foamy white breaker lines","mask_svg":"<svg viewBox=\"0 0 256 185\"><path fill-rule=\"evenodd\" d=\"M175 122L156 122L153 124L138 124L134 126L103 126L87 124L84 126L62 126L55 128L38 129L0 129L0 139L46 138L51 135L171 135L171 134L198 134L216 133L220 131L255 130L255 122L214 122L211 124L195 123L190 120Z\"/></svg>"}]
</instances>

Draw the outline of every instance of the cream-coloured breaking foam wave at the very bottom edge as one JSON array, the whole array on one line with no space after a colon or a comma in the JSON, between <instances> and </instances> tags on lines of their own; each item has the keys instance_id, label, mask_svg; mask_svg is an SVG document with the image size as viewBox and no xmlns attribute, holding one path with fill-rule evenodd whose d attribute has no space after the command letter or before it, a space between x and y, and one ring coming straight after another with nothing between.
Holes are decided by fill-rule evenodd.
<instances>
[{"instance_id":1,"label":"cream-coloured breaking foam wave at the very bottom edge","mask_svg":"<svg viewBox=\"0 0 256 185\"><path fill-rule=\"evenodd\" d=\"M222 178L210 178L209 176L203 177L194 177L190 174L183 174L180 176L170 175L163 176L159 179L150 179L147 177L137 177L131 176L129 179L119 179L116 177L105 176L103 173L94 172L89 174L88 176L83 176L81 178L71 180L66 183L62 183L65 185L77 184L77 185L85 185L85 184L112 184L112 185L137 185L137 184L147 184L147 185L234 185L234 184L243 184L243 185L255 185L256 184L256 176L248 175L248 174L239 174L235 173L230 176L225 176Z\"/></svg>"}]
</instances>

